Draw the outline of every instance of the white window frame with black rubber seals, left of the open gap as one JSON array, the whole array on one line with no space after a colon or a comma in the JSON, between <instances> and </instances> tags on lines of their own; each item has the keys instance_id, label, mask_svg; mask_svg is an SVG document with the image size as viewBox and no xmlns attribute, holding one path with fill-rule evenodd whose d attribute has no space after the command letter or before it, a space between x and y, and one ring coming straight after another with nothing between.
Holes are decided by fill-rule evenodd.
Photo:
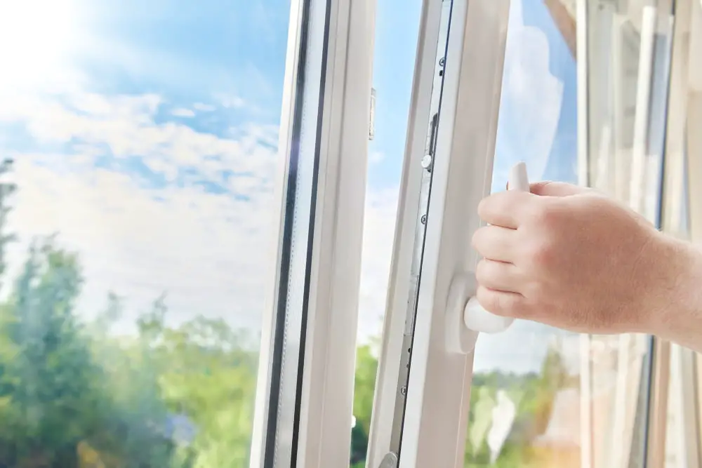
<instances>
[{"instance_id":1,"label":"white window frame with black rubber seals, left of the open gap","mask_svg":"<svg viewBox=\"0 0 702 468\"><path fill-rule=\"evenodd\" d=\"M252 468L349 462L374 8L291 2Z\"/></svg>"}]
</instances>

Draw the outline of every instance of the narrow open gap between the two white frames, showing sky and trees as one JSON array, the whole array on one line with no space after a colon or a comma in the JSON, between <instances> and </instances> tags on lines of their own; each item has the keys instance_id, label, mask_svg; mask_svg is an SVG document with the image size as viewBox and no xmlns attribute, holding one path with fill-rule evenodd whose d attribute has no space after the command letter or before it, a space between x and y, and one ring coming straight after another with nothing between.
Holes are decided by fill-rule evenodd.
<instances>
[{"instance_id":1,"label":"narrow open gap between the two white frames, showing sky and trees","mask_svg":"<svg viewBox=\"0 0 702 468\"><path fill-rule=\"evenodd\" d=\"M422 1L378 1L351 466L366 466Z\"/></svg>"}]
</instances>

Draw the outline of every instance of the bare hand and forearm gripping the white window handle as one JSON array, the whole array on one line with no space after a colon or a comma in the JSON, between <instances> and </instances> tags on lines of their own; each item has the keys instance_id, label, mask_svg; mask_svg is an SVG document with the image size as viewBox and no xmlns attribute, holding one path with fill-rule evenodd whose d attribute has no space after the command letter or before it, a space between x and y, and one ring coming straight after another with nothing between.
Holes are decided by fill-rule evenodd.
<instances>
[{"instance_id":1,"label":"bare hand and forearm gripping the white window handle","mask_svg":"<svg viewBox=\"0 0 702 468\"><path fill-rule=\"evenodd\" d=\"M702 352L702 250L591 189L559 182L480 203L477 298L581 333L650 333Z\"/></svg>"}]
</instances>

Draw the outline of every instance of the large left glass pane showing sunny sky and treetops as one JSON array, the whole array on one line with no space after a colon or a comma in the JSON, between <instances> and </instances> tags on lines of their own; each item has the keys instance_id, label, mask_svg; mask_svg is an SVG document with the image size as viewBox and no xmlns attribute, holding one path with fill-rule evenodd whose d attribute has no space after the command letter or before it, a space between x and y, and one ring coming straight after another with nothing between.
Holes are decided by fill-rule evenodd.
<instances>
[{"instance_id":1,"label":"large left glass pane showing sunny sky and treetops","mask_svg":"<svg viewBox=\"0 0 702 468\"><path fill-rule=\"evenodd\" d=\"M0 2L0 466L248 467L288 21Z\"/></svg>"}]
</instances>

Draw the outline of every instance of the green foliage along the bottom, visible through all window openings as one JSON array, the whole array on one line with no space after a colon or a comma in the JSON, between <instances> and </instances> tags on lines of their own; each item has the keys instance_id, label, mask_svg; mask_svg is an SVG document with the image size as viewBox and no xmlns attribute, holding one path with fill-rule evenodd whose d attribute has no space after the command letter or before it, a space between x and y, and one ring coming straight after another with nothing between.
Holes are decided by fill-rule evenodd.
<instances>
[{"instance_id":1,"label":"green foliage along the bottom, visible through all window openings","mask_svg":"<svg viewBox=\"0 0 702 468\"><path fill-rule=\"evenodd\" d=\"M0 163L0 175L11 170ZM165 294L118 332L124 299L110 292L92 319L77 312L84 283L79 253L58 235L29 242L7 278L11 195L0 182L0 468L243 468L249 464L258 354L243 330L206 311L176 321ZM378 360L357 349L350 447L364 467ZM510 436L492 467L539 466L531 441L545 431L556 392L570 385L557 353L540 373L473 377L480 394L505 389L517 402ZM475 415L470 415L470 424ZM471 467L489 465L485 443L468 444Z\"/></svg>"}]
</instances>

